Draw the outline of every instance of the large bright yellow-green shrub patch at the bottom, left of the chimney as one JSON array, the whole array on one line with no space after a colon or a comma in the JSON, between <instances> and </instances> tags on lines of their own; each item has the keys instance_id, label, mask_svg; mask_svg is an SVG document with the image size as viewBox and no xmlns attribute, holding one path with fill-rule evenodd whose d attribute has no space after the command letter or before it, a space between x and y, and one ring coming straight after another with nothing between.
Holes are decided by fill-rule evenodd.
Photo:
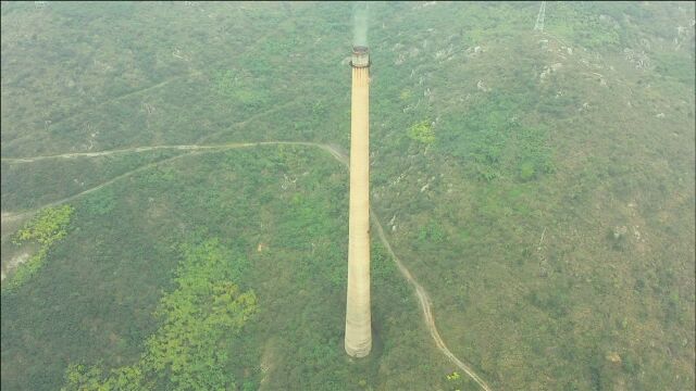
<instances>
[{"instance_id":1,"label":"large bright yellow-green shrub patch at the bottom, left of the chimney","mask_svg":"<svg viewBox=\"0 0 696 391\"><path fill-rule=\"evenodd\" d=\"M176 290L164 294L156 316L161 326L146 352L129 366L111 369L71 365L62 390L226 390L236 379L225 368L234 354L221 351L257 312L253 291L232 282L235 256L219 240L183 245L174 277Z\"/></svg>"}]
</instances>

